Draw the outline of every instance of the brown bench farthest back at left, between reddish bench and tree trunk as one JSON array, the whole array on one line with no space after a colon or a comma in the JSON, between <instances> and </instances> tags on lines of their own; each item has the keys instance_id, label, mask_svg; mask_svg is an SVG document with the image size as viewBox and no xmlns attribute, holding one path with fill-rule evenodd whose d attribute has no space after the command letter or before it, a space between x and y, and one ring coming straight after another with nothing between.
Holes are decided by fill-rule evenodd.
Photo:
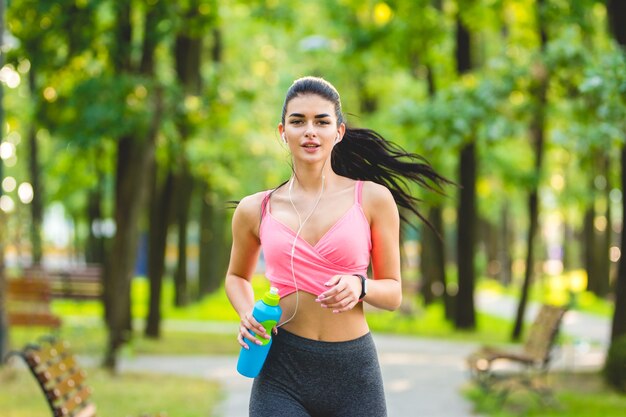
<instances>
[{"instance_id":1,"label":"brown bench farthest back at left, between reddish bench and tree trunk","mask_svg":"<svg viewBox=\"0 0 626 417\"><path fill-rule=\"evenodd\" d=\"M102 298L102 267L81 265L67 268L29 267L24 277L50 282L52 298L69 300L100 300Z\"/></svg>"}]
</instances>

